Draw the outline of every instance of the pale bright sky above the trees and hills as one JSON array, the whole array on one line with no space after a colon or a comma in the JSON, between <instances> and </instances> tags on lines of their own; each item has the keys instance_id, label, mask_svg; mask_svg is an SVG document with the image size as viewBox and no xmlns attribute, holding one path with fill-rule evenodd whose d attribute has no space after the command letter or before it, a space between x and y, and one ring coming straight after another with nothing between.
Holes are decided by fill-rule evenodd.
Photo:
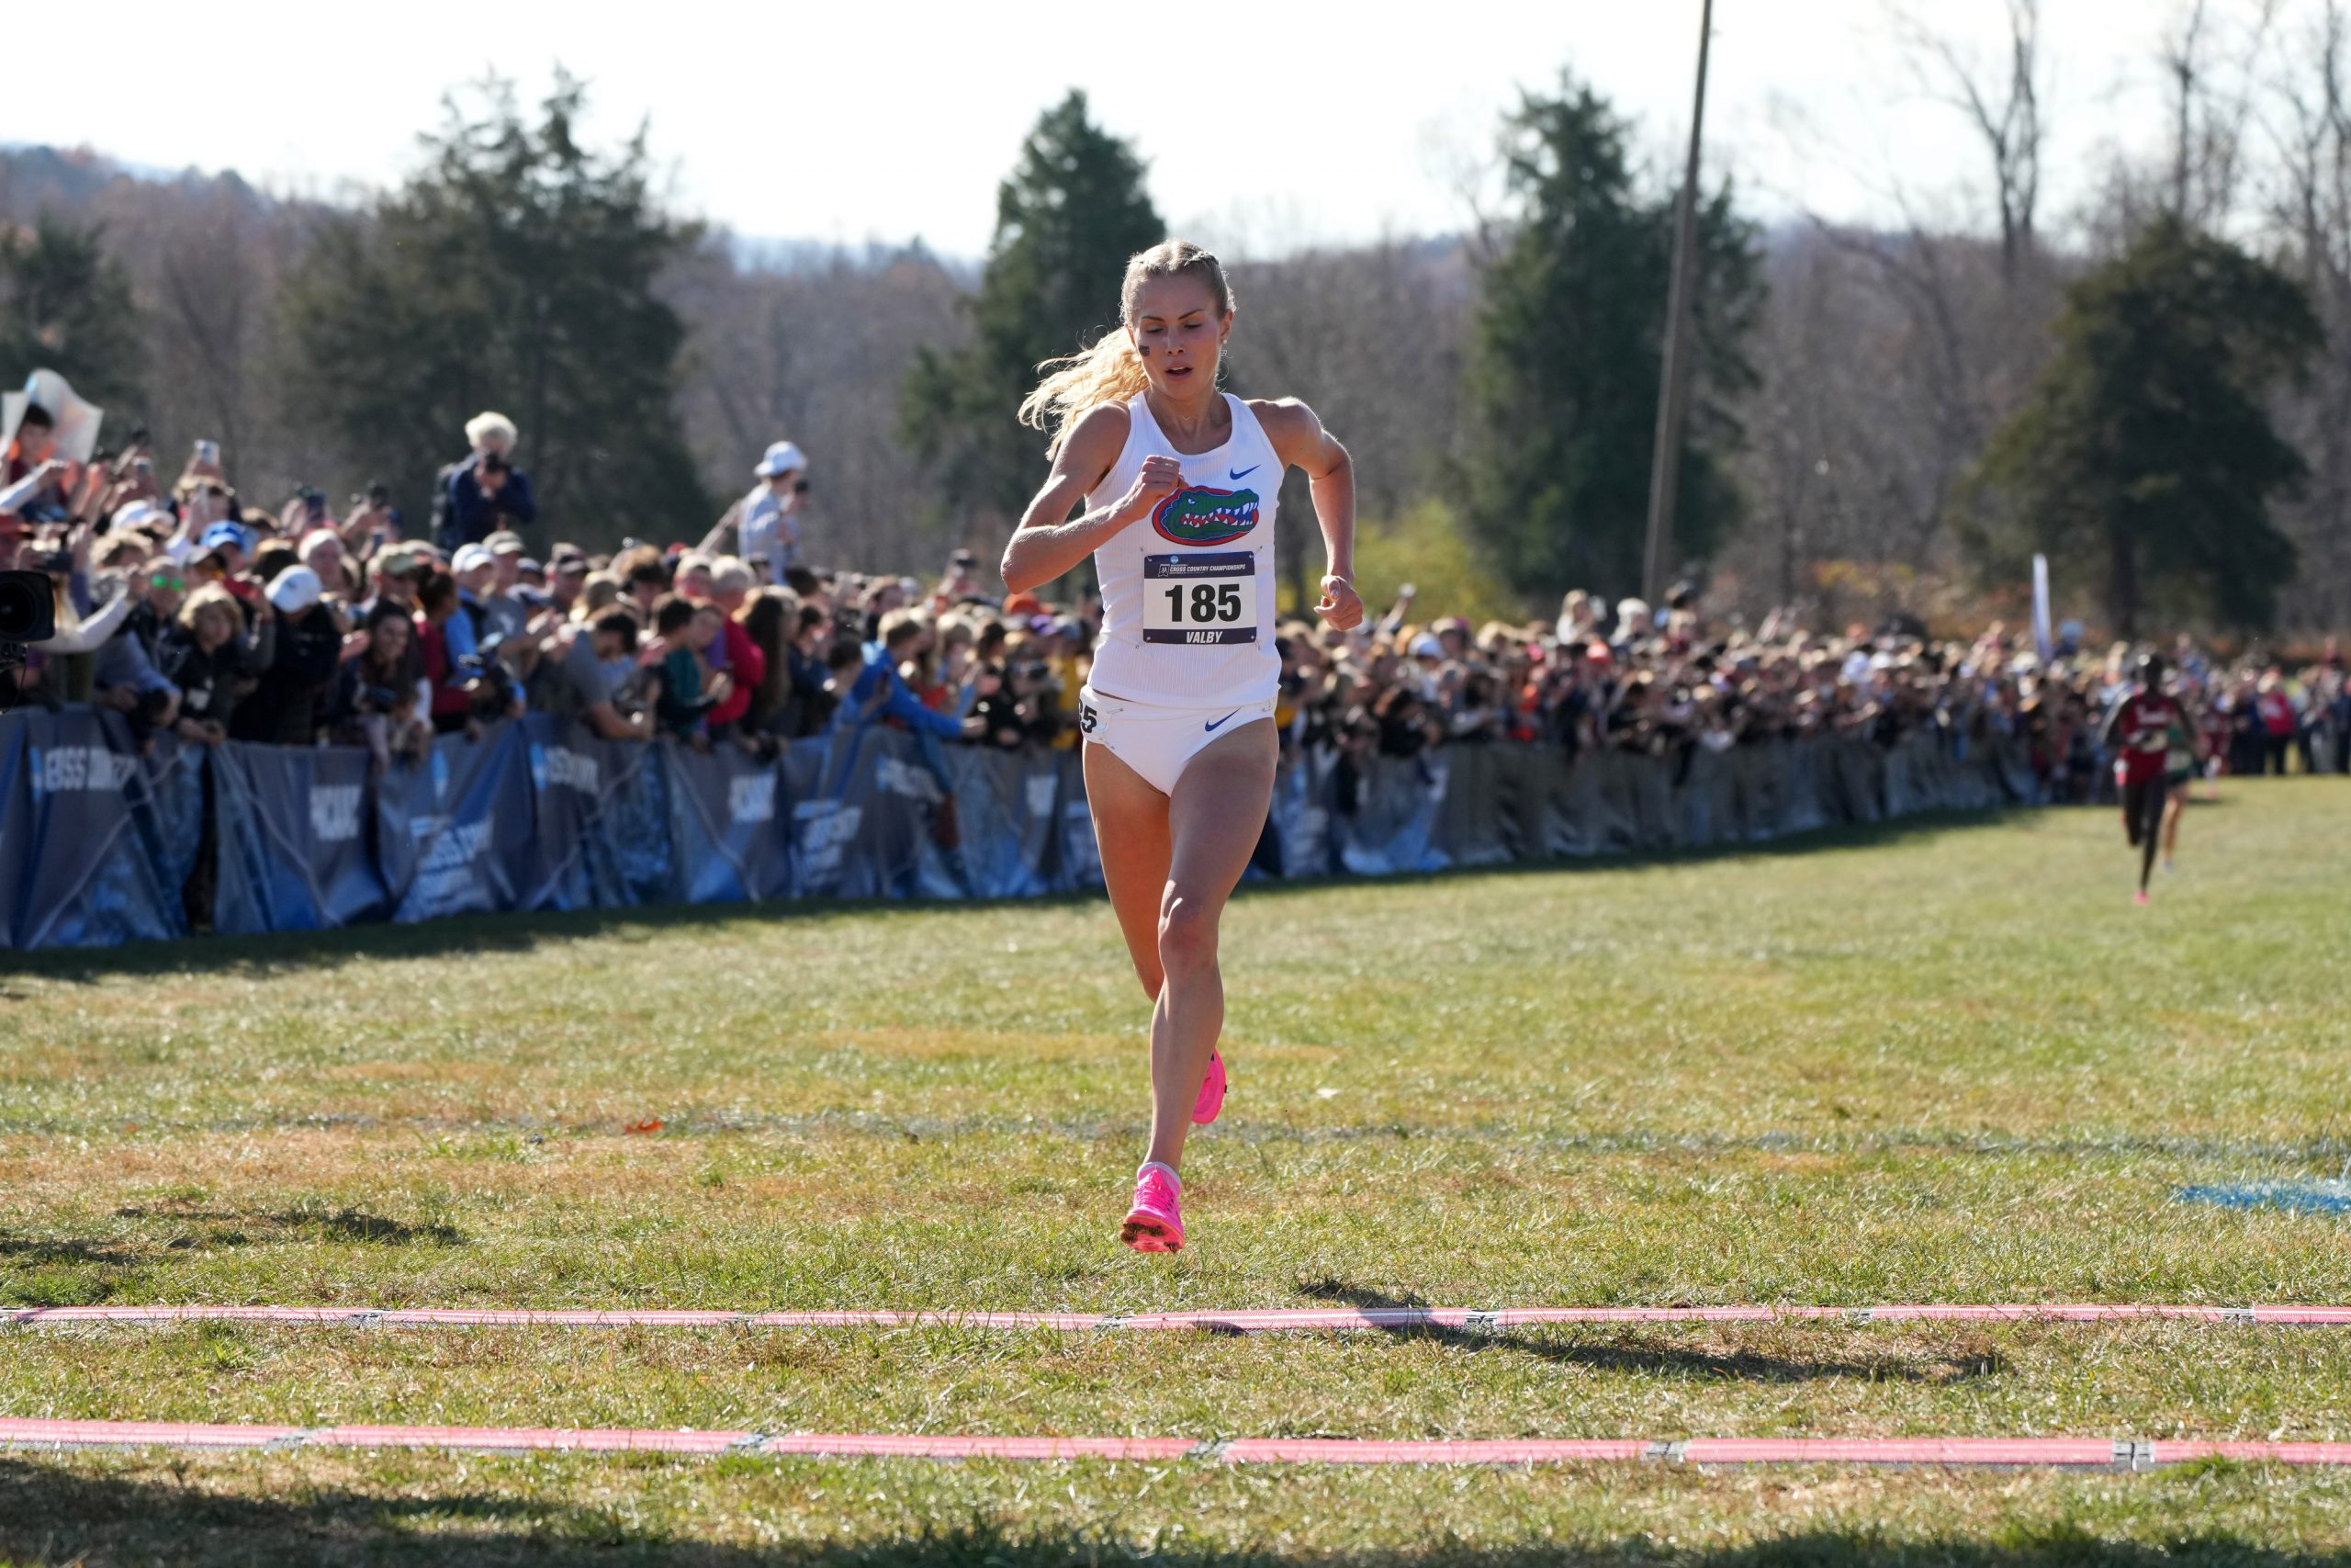
<instances>
[{"instance_id":1,"label":"pale bright sky above the trees and hills","mask_svg":"<svg viewBox=\"0 0 2351 1568\"><path fill-rule=\"evenodd\" d=\"M1982 153L1893 42L1895 0L1716 0L1709 172L1766 221L1886 221L1895 186L1982 221ZM2003 0L1916 0L1996 80ZM2161 139L2154 56L2184 0L2043 0L2052 61L2045 209L2062 221L2102 148ZM2219 9L2255 0L2219 0ZM21 73L0 143L129 165L235 169L348 195L418 162L449 87L487 71L590 85L588 136L639 120L672 205L748 237L922 237L980 256L994 190L1037 113L1081 87L1150 165L1176 233L1281 254L1462 228L1493 127L1561 68L1608 94L1674 167L1697 0L1248 0L1244 5L444 5L207 7L129 0L141 87ZM122 49L110 49L120 54ZM94 85L96 82L96 85Z\"/></svg>"}]
</instances>

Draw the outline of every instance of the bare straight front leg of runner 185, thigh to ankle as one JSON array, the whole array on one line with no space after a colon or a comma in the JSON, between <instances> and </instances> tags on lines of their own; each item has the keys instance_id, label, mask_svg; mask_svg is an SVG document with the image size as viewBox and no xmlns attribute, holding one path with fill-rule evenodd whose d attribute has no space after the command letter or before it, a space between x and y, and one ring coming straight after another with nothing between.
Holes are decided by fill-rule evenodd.
<instances>
[{"instance_id":1,"label":"bare straight front leg of runner 185, thigh to ankle","mask_svg":"<svg viewBox=\"0 0 2351 1568\"><path fill-rule=\"evenodd\" d=\"M1183 1168L1183 1140L1225 1027L1225 976L1215 959L1225 900L1241 882L1274 797L1279 745L1272 719L1253 719L1201 750L1168 797L1168 879L1159 900L1166 983L1152 1009L1152 1150Z\"/></svg>"}]
</instances>

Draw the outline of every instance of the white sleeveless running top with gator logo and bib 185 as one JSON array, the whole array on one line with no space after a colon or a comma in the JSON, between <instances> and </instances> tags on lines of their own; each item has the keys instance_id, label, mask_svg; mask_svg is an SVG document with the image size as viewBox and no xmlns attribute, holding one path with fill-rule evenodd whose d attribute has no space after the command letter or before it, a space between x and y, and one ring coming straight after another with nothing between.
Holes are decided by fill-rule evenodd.
<instances>
[{"instance_id":1,"label":"white sleeveless running top with gator logo and bib 185","mask_svg":"<svg viewBox=\"0 0 2351 1568\"><path fill-rule=\"evenodd\" d=\"M1089 508L1114 505L1143 458L1183 463L1183 487L1093 552L1103 635L1091 686L1154 708L1253 708L1281 684L1274 651L1274 505L1281 458L1248 404L1225 393L1232 437L1176 451L1143 393L1126 402L1126 447Z\"/></svg>"}]
</instances>

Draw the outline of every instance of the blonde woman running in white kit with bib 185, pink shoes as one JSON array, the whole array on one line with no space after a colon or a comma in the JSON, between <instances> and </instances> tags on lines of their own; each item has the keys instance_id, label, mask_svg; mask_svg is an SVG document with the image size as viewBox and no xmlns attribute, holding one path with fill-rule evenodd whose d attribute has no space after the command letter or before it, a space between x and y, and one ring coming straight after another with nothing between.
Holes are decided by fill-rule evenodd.
<instances>
[{"instance_id":1,"label":"blonde woman running in white kit with bib 185, pink shoes","mask_svg":"<svg viewBox=\"0 0 2351 1568\"><path fill-rule=\"evenodd\" d=\"M1121 327L1046 364L1020 418L1053 433L1053 473L1004 548L1004 588L1093 555L1103 635L1079 701L1103 882L1152 999L1152 1143L1119 1239L1183 1248L1183 1143L1225 1103L1215 929L1274 795L1274 501L1305 470L1331 571L1314 614L1347 630L1354 470L1293 397L1215 390L1232 289L1168 240L1126 263ZM1070 512L1084 503L1084 512Z\"/></svg>"}]
</instances>

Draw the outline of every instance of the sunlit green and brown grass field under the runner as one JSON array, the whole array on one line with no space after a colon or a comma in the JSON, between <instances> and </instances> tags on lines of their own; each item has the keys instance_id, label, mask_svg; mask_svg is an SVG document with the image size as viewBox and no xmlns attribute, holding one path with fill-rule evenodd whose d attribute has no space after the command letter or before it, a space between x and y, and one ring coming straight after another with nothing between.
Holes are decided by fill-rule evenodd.
<instances>
[{"instance_id":1,"label":"sunlit green and brown grass field under the runner","mask_svg":"<svg viewBox=\"0 0 2351 1568\"><path fill-rule=\"evenodd\" d=\"M1107 907L0 969L0 1305L2351 1302L2351 792L1251 889L1192 1246L1114 1246ZM658 1124L658 1126L656 1126ZM635 1131L632 1131L635 1128ZM2351 1331L0 1331L0 1415L1136 1436L2351 1439ZM0 1455L0 1563L2351 1563L2351 1479Z\"/></svg>"}]
</instances>

